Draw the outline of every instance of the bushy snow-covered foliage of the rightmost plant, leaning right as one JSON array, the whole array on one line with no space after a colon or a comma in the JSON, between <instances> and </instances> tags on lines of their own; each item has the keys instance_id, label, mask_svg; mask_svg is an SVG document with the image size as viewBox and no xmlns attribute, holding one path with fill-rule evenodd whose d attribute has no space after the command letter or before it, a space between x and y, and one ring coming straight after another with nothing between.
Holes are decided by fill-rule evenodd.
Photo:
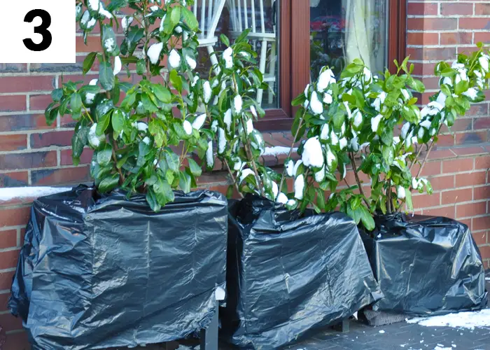
<instances>
[{"instance_id":1,"label":"bushy snow-covered foliage of the rightmost plant, leaning right","mask_svg":"<svg viewBox=\"0 0 490 350\"><path fill-rule=\"evenodd\" d=\"M470 57L458 55L452 65L437 64L440 91L422 109L412 91L421 93L424 86L412 77L408 58L395 62L395 74L386 70L381 78L360 59L346 66L338 80L329 67L323 67L318 80L293 101L300 109L292 133L295 139L304 139L297 151L302 164L291 171L292 162L286 161L285 169L287 176L304 183L304 195L297 197L301 208L307 207L305 202L316 211L339 207L371 230L375 212L398 211L404 204L411 210L412 190L431 193L429 181L413 176L412 170L419 169L414 165L421 163L421 150L437 141L442 125L451 127L471 103L484 99L490 78L484 51L479 45ZM395 130L401 130L400 137ZM356 175L363 172L370 183L363 186L360 176L355 176L356 183L348 183L347 167L354 168ZM347 188L337 189L340 181ZM328 200L325 190L333 193Z\"/></svg>"}]
</instances>

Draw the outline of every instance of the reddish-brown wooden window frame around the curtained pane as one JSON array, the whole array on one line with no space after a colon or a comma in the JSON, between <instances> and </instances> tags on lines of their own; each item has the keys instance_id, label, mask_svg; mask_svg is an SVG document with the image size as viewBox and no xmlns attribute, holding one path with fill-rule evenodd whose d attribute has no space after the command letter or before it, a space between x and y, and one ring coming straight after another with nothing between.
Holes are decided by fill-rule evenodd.
<instances>
[{"instance_id":1,"label":"reddish-brown wooden window frame around the curtained pane","mask_svg":"<svg viewBox=\"0 0 490 350\"><path fill-rule=\"evenodd\" d=\"M267 109L255 123L261 131L290 130L295 109L291 101L309 83L309 0L280 1L279 14L279 109ZM393 59L405 58L407 0L390 0L388 8L388 69L395 70Z\"/></svg>"}]
</instances>

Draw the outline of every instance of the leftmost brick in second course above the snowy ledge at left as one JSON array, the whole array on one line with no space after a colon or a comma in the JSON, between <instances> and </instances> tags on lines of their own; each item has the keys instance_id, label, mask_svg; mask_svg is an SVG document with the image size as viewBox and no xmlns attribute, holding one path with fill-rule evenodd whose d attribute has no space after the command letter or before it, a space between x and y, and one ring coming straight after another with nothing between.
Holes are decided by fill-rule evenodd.
<instances>
[{"instance_id":1,"label":"leftmost brick in second course above the snowy ledge at left","mask_svg":"<svg viewBox=\"0 0 490 350\"><path fill-rule=\"evenodd\" d=\"M0 169L31 169L57 165L55 151L34 153L6 153L0 155Z\"/></svg>"}]
</instances>

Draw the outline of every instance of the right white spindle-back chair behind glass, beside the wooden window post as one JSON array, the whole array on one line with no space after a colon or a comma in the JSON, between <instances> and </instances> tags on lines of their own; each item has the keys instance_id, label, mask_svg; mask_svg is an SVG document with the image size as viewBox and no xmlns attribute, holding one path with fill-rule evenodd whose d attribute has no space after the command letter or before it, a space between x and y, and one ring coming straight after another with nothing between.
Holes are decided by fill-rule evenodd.
<instances>
[{"instance_id":1,"label":"right white spindle-back chair behind glass, beside the wooden window post","mask_svg":"<svg viewBox=\"0 0 490 350\"><path fill-rule=\"evenodd\" d=\"M276 0L267 0L271 3L271 8L276 6ZM266 31L265 28L265 15L264 15L264 0L258 0L259 13L260 13L260 25L257 26L255 20L255 0L226 0L226 4L230 10L230 22L232 24L233 31L230 33L232 38L237 38L245 29L250 28L251 32L248 37L260 41L260 61L259 70L264 76L264 81L269 83L269 87L274 91L274 83L276 82L276 25L272 26L272 31ZM249 17L251 20L249 21ZM269 55L269 72L265 74L265 64L267 60L267 47L268 43L271 43L270 55ZM257 92L257 102L262 103L262 90ZM272 104L274 94L269 91L269 104Z\"/></svg>"}]
</instances>

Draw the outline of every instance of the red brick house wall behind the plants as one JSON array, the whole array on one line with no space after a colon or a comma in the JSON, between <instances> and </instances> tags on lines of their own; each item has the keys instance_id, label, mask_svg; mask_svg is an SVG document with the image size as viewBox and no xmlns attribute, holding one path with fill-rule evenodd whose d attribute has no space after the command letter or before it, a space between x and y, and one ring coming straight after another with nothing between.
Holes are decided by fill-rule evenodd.
<instances>
[{"instance_id":1,"label":"red brick house wall behind the plants","mask_svg":"<svg viewBox=\"0 0 490 350\"><path fill-rule=\"evenodd\" d=\"M71 162L73 121L63 118L48 126L43 116L50 91L59 86L62 75L72 80L97 77L97 71L91 71L83 78L80 67L84 55L98 44L89 38L92 48L86 48L81 36L78 39L77 64L0 64L0 187L90 181L90 153L83 155L79 167ZM472 50L478 41L490 42L489 1L409 0L407 54L415 64L414 73L428 87L421 96L424 103L437 86L435 62L451 62L457 52ZM490 93L487 96L490 99ZM432 181L434 194L414 195L416 213L457 218L470 227L486 268L490 268L489 113L488 102L473 106L468 116L456 121L452 133L440 138L422 173ZM290 135L265 134L265 141L271 146L290 146ZM283 158L269 156L264 162L281 164ZM223 172L206 174L200 183L223 193L227 188ZM8 314L6 300L30 202L0 203L0 325L7 333L6 350L27 349L22 325Z\"/></svg>"}]
</instances>

